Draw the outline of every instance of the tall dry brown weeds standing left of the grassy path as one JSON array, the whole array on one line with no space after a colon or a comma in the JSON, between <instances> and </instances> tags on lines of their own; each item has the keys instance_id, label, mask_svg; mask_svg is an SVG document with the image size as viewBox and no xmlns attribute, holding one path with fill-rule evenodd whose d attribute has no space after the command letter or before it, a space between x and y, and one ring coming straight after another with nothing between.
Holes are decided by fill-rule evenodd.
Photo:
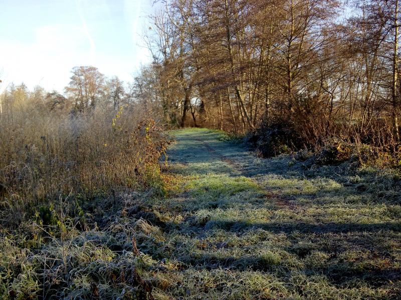
<instances>
[{"instance_id":1,"label":"tall dry brown weeds standing left of the grassy path","mask_svg":"<svg viewBox=\"0 0 401 300\"><path fill-rule=\"evenodd\" d=\"M18 225L38 204L157 185L165 139L133 111L18 111L0 122L0 218Z\"/></svg>"}]
</instances>

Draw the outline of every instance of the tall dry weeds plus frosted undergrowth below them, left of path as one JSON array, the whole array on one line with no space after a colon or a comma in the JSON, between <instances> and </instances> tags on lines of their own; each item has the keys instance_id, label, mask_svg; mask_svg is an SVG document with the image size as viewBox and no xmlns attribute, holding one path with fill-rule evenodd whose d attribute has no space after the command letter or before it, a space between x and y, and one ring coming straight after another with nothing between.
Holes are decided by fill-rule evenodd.
<instances>
[{"instance_id":1,"label":"tall dry weeds plus frosted undergrowth below them, left of path","mask_svg":"<svg viewBox=\"0 0 401 300\"><path fill-rule=\"evenodd\" d=\"M20 104L0 119L0 298L114 297L118 289L108 290L124 274L112 275L108 263L117 256L130 263L120 280L131 286L125 294L149 295L136 268L146 258L132 253L140 236L130 233L152 228L116 220L137 192L163 193L168 142L160 128L132 106L71 112ZM113 251L120 242L130 254ZM94 272L102 282L88 277Z\"/></svg>"}]
</instances>

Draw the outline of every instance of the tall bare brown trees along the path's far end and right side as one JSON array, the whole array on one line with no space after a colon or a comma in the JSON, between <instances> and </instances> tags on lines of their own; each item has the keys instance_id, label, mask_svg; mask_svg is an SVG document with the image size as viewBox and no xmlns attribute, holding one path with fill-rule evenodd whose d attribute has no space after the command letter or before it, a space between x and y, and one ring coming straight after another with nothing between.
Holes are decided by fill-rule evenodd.
<instances>
[{"instance_id":1,"label":"tall bare brown trees along the path's far end and right side","mask_svg":"<svg viewBox=\"0 0 401 300\"><path fill-rule=\"evenodd\" d=\"M165 0L142 101L174 126L399 141L398 0Z\"/></svg>"}]
</instances>

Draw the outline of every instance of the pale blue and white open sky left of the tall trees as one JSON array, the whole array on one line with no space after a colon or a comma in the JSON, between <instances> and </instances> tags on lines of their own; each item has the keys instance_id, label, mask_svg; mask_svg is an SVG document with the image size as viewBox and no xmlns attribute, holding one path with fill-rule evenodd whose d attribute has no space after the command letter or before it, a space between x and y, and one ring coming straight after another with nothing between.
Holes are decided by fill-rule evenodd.
<instances>
[{"instance_id":1,"label":"pale blue and white open sky left of the tall trees","mask_svg":"<svg viewBox=\"0 0 401 300\"><path fill-rule=\"evenodd\" d=\"M0 91L10 82L63 91L93 65L124 81L150 55L141 33L152 0L0 0Z\"/></svg>"}]
</instances>

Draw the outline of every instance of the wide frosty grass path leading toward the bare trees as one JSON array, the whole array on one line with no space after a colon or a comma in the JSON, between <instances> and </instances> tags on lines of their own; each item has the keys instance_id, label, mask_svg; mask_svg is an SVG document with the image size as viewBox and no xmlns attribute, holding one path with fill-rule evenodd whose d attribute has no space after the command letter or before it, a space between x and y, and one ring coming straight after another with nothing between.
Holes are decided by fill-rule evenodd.
<instances>
[{"instance_id":1,"label":"wide frosty grass path leading toward the bare trees","mask_svg":"<svg viewBox=\"0 0 401 300\"><path fill-rule=\"evenodd\" d=\"M157 247L140 245L164 259L156 297L401 298L392 178L260 159L209 129L171 134L169 196L153 203Z\"/></svg>"}]
</instances>

